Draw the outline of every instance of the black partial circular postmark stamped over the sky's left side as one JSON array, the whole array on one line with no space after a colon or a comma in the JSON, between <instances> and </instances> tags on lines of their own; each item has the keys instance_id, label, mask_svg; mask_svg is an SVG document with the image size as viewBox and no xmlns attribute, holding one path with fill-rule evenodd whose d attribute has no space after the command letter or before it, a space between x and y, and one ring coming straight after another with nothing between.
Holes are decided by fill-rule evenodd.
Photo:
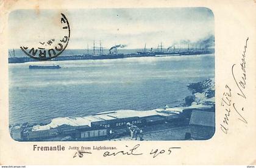
<instances>
[{"instance_id":1,"label":"black partial circular postmark stamped over the sky's left side","mask_svg":"<svg viewBox=\"0 0 256 168\"><path fill-rule=\"evenodd\" d=\"M27 56L37 60L51 60L52 58L62 54L66 49L66 46L68 46L70 27L66 16L63 13L60 14L60 29L58 30L59 37L38 41L38 43L33 47L21 46L21 51L23 51Z\"/></svg>"}]
</instances>

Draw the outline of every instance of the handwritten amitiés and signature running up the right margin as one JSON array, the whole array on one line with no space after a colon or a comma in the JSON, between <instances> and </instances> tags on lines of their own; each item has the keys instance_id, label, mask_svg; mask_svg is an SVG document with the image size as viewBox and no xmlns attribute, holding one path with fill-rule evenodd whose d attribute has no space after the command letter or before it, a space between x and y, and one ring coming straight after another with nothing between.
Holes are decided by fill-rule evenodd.
<instances>
[{"instance_id":1,"label":"handwritten amiti\u00e9s and signature running up the right margin","mask_svg":"<svg viewBox=\"0 0 256 168\"><path fill-rule=\"evenodd\" d=\"M248 40L249 40L249 37L247 37L246 39L246 43L244 45L244 51L241 58L241 63L240 63L241 72L239 74L235 73L234 69L237 67L236 64L233 64L231 68L233 80L237 86L236 89L238 89L238 93L236 94L244 100L246 100L246 94L244 93L244 89L246 89L246 51L247 51ZM238 119L240 121L244 122L245 124L247 124L247 121L242 114L242 111L244 111L244 107L242 107L241 110L238 110L238 108L236 107L236 103L232 101L232 89L229 87L229 85L226 85L225 88L226 88L226 91L223 93L221 98L221 106L225 108L226 113L222 121L222 124L220 125L221 125L221 130L227 134L229 130L229 116L232 109L235 111L236 114L238 114Z\"/></svg>"}]
</instances>

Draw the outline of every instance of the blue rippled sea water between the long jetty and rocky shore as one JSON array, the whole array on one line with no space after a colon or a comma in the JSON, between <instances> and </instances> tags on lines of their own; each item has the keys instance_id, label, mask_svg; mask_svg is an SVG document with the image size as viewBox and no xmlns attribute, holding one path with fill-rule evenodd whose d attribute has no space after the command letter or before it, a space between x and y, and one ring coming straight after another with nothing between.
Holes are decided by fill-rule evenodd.
<instances>
[{"instance_id":1,"label":"blue rippled sea water between the long jetty and rocky shore","mask_svg":"<svg viewBox=\"0 0 256 168\"><path fill-rule=\"evenodd\" d=\"M29 69L53 64L62 68ZM9 64L9 122L173 107L191 95L188 83L214 77L214 54Z\"/></svg>"}]
</instances>

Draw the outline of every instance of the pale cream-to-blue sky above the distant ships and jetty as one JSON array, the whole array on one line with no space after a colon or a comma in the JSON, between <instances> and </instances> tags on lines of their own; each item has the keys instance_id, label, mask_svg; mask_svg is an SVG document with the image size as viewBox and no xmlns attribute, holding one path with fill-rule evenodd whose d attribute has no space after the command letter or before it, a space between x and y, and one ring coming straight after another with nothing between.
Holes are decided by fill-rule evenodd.
<instances>
[{"instance_id":1,"label":"pale cream-to-blue sky above the distant ships and jetty","mask_svg":"<svg viewBox=\"0 0 256 168\"><path fill-rule=\"evenodd\" d=\"M60 13L69 21L68 49L99 46L105 49L124 44L126 49L163 47L190 40L191 43L214 35L214 16L210 9L72 9L15 10L9 15L9 48L35 46L38 41L60 38Z\"/></svg>"}]
</instances>

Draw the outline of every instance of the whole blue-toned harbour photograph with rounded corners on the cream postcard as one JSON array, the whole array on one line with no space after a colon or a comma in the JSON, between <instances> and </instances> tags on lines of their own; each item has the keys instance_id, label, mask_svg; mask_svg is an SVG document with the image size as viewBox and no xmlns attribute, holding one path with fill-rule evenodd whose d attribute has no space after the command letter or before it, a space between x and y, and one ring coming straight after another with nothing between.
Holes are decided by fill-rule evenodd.
<instances>
[{"instance_id":1,"label":"whole blue-toned harbour photograph with rounded corners on the cream postcard","mask_svg":"<svg viewBox=\"0 0 256 168\"><path fill-rule=\"evenodd\" d=\"M8 26L15 141L213 137L212 10L15 10Z\"/></svg>"}]
</instances>

